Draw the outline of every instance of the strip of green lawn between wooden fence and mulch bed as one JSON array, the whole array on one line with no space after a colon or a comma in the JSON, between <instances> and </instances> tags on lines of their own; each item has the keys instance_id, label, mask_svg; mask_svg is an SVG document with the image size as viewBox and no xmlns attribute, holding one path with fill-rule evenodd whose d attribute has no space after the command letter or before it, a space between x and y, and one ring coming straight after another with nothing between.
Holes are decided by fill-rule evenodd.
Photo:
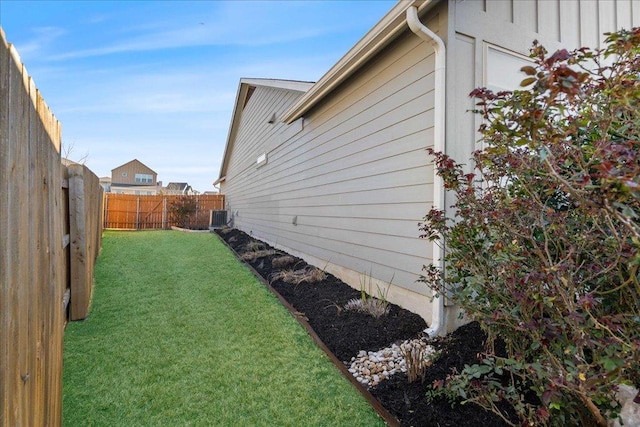
<instances>
[{"instance_id":1,"label":"strip of green lawn between wooden fence and mulch bed","mask_svg":"<svg viewBox=\"0 0 640 427\"><path fill-rule=\"evenodd\" d=\"M66 426L383 425L208 233L105 232L64 346Z\"/></svg>"}]
</instances>

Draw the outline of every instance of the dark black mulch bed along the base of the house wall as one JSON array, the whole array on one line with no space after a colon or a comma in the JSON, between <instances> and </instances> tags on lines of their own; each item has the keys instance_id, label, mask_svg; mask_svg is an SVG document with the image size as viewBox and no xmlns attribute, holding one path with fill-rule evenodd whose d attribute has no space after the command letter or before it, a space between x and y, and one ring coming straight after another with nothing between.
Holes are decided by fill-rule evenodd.
<instances>
[{"instance_id":1,"label":"dark black mulch bed along the base of the house wall","mask_svg":"<svg viewBox=\"0 0 640 427\"><path fill-rule=\"evenodd\" d=\"M246 245L255 240L235 229L218 230L217 233L239 254L247 252ZM272 249L266 244L264 248ZM427 326L420 316L393 304L389 315L379 319L342 310L347 301L359 298L360 292L330 274L321 282L299 285L272 280L274 274L281 270L274 268L272 261L282 255L278 251L277 255L247 263L299 315L308 319L320 339L342 361L349 361L360 350L377 351L394 342L417 338ZM299 270L306 266L303 260L295 258L294 263L285 268ZM462 370L465 364L476 363L485 338L476 323L463 326L446 337L434 340L433 345L440 350L441 356L428 368L424 383L409 383L406 374L396 374L370 389L370 392L403 426L505 426L497 415L474 404L452 406L444 398L436 398L431 402L425 399L427 388L433 381L444 379L454 369Z\"/></svg>"}]
</instances>

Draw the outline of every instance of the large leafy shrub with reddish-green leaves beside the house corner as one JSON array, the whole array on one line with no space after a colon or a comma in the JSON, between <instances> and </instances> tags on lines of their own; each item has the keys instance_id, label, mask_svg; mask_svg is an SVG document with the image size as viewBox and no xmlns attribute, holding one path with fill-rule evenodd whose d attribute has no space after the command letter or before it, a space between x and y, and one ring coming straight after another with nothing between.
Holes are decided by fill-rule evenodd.
<instances>
[{"instance_id":1,"label":"large leafy shrub with reddish-green leaves beside the house corner","mask_svg":"<svg viewBox=\"0 0 640 427\"><path fill-rule=\"evenodd\" d=\"M438 386L508 423L496 402L522 425L605 426L617 385L640 383L640 28L531 56L526 89L472 93L472 173L431 151L455 220L432 209L421 224L446 245L445 274L421 280L489 337L481 363Z\"/></svg>"}]
</instances>

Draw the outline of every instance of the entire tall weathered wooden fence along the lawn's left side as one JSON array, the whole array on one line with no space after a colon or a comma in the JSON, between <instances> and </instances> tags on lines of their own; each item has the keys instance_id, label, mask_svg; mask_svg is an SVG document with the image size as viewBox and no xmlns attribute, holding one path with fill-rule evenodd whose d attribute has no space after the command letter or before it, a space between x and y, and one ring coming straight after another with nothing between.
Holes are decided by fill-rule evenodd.
<instances>
[{"instance_id":1,"label":"entire tall weathered wooden fence along the lawn's left side","mask_svg":"<svg viewBox=\"0 0 640 427\"><path fill-rule=\"evenodd\" d=\"M101 191L0 28L0 425L62 423L67 304L86 314ZM80 178L81 177L81 178Z\"/></svg>"}]
</instances>

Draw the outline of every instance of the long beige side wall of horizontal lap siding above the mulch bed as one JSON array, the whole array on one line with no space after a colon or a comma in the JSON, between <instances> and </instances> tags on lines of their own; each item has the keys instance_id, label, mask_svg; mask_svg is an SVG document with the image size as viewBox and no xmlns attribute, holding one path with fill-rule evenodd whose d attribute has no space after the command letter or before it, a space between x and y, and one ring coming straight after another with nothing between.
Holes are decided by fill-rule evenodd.
<instances>
[{"instance_id":1,"label":"long beige side wall of horizontal lap siding above the mulch bed","mask_svg":"<svg viewBox=\"0 0 640 427\"><path fill-rule=\"evenodd\" d=\"M446 5L433 15L446 34ZM392 282L388 299L429 319L416 280L431 258L418 222L432 205L433 70L433 49L407 29L292 131L267 130L266 106L286 102L257 89L221 184L234 226L355 288Z\"/></svg>"}]
</instances>

